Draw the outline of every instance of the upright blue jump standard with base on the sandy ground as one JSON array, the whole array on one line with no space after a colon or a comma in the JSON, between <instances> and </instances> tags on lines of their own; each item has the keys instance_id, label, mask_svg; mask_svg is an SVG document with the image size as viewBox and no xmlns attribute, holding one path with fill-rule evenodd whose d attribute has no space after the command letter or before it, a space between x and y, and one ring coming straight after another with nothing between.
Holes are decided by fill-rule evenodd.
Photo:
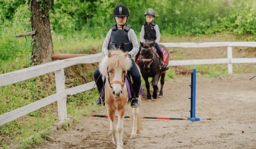
<instances>
[{"instance_id":1,"label":"upright blue jump standard with base on the sandy ground","mask_svg":"<svg viewBox=\"0 0 256 149\"><path fill-rule=\"evenodd\" d=\"M191 73L191 110L190 110L190 118L187 118L189 121L200 121L200 118L196 118L196 69L193 69Z\"/></svg>"}]
</instances>

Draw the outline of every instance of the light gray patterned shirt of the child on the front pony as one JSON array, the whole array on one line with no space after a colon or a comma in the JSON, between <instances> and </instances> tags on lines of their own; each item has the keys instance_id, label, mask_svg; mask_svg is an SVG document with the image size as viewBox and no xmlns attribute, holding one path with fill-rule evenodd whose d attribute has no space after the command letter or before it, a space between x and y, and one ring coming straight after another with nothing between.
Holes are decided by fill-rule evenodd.
<instances>
[{"instance_id":1,"label":"light gray patterned shirt of the child on the front pony","mask_svg":"<svg viewBox=\"0 0 256 149\"><path fill-rule=\"evenodd\" d=\"M102 45L102 54L105 57L106 55L108 55L108 46L109 46L109 41L110 41L110 36L111 36L111 32L112 29L109 30L109 32L107 33L107 36L105 38L105 41ZM130 40L130 42L132 43L132 50L128 53L130 54L132 57L135 56L138 51L139 51L139 44L138 44L138 40L136 37L136 34L134 32L133 29L130 29L128 31L128 39Z\"/></svg>"}]
</instances>

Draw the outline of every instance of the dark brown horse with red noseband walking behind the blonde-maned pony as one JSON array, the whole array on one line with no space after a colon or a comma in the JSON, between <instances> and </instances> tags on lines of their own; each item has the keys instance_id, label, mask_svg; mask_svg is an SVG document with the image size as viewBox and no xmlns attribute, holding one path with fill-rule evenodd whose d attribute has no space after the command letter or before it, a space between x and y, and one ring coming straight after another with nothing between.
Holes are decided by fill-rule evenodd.
<instances>
[{"instance_id":1,"label":"dark brown horse with red noseband walking behind the blonde-maned pony","mask_svg":"<svg viewBox=\"0 0 256 149\"><path fill-rule=\"evenodd\" d=\"M157 87L157 82L161 76L161 89L160 89L160 93L159 93L159 97L163 96L163 85L164 85L164 77L166 74L166 71L162 71L160 69L160 61L159 58L157 57L157 54L155 53L156 48L155 46L153 46L155 44L155 41L153 42L149 42L146 40L146 42L144 43L140 43L141 44L141 56L140 56L140 60L139 60L139 67L141 70L141 74L143 79L145 80L146 83L146 88L147 88L147 99L150 99L151 101L151 95L150 95L150 84L148 82L148 77L152 77L153 80L153 98L156 99L157 98L157 92L158 92L158 87ZM153 46L153 48L152 48ZM168 56L168 60L169 60L169 53L166 49L166 47L164 47L163 45L160 45L162 48L164 48L164 50L167 53ZM167 62L168 65L168 62Z\"/></svg>"}]
</instances>

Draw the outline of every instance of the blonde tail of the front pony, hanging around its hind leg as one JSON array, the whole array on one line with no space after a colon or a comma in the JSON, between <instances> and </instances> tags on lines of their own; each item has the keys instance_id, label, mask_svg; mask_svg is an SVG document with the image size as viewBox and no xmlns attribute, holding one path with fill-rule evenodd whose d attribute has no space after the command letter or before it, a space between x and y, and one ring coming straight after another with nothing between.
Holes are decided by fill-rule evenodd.
<instances>
[{"instance_id":1,"label":"blonde tail of the front pony, hanging around its hind leg","mask_svg":"<svg viewBox=\"0 0 256 149\"><path fill-rule=\"evenodd\" d=\"M139 109L139 112L138 112L138 116L137 116L137 134L140 133L143 128L142 128L142 120L141 120L141 96L138 97L139 101L140 101L140 107L138 107ZM130 106L130 102L128 104L129 108L128 108L128 111L129 111L129 116L130 116L130 119L131 119L131 126L133 126L133 114L132 114L132 107Z\"/></svg>"}]
</instances>

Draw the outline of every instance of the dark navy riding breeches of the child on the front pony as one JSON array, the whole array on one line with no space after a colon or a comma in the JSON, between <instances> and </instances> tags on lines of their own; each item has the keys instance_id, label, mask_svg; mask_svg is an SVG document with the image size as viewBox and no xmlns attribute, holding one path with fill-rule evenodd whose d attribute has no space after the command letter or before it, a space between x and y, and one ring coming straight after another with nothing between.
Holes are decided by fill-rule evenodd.
<instances>
[{"instance_id":1,"label":"dark navy riding breeches of the child on the front pony","mask_svg":"<svg viewBox=\"0 0 256 149\"><path fill-rule=\"evenodd\" d=\"M138 97L140 87L141 87L141 74L140 74L140 71L138 70L138 68L137 68L133 59L132 59L132 67L130 68L130 70L127 73L131 74L131 76L132 76L132 80L133 80L133 86L132 87L134 89L136 97ZM99 77L99 79L98 79L98 77ZM98 79L98 81L96 82L96 85L97 85L97 89L100 93L101 88L103 86L103 81L102 81L102 75L100 74L99 68L97 68L94 71L93 78L94 78L95 82Z\"/></svg>"}]
</instances>

